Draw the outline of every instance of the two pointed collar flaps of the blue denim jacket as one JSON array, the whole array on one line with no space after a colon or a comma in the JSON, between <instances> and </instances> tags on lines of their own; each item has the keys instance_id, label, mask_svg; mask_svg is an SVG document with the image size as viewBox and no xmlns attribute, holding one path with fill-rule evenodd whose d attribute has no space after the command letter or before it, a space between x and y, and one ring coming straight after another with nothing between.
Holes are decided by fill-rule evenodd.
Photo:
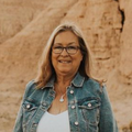
<instances>
[{"instance_id":1,"label":"two pointed collar flaps of the blue denim jacket","mask_svg":"<svg viewBox=\"0 0 132 132\"><path fill-rule=\"evenodd\" d=\"M54 81L55 81L55 76L53 76L42 89L47 87L54 88ZM74 79L72 80L70 85L74 85L75 87L82 87L84 81L85 81L85 77L82 77L79 73L77 73Z\"/></svg>"}]
</instances>

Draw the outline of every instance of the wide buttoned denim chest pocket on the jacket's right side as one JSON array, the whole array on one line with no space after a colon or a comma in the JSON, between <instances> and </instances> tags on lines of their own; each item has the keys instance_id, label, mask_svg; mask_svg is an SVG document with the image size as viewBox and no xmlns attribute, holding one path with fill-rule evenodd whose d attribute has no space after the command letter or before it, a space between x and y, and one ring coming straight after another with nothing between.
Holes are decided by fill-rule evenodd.
<instances>
[{"instance_id":1,"label":"wide buttoned denim chest pocket on the jacket's right side","mask_svg":"<svg viewBox=\"0 0 132 132\"><path fill-rule=\"evenodd\" d=\"M100 107L100 100L95 97L88 97L88 98L78 100L78 108L81 111L81 114L85 121L89 125L95 125L95 127L98 125L99 107Z\"/></svg>"}]
</instances>

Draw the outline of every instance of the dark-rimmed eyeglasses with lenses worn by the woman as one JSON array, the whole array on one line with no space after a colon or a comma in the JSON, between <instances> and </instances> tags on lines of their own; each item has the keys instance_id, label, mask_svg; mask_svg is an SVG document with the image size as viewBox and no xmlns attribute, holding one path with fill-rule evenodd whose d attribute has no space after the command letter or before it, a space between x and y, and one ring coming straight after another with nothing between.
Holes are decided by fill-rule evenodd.
<instances>
[{"instance_id":1,"label":"dark-rimmed eyeglasses with lenses worn by the woman","mask_svg":"<svg viewBox=\"0 0 132 132\"><path fill-rule=\"evenodd\" d=\"M64 50L66 50L68 54L74 55L77 53L78 50L80 50L80 47L79 46L66 46L66 47L53 46L52 50L55 54L61 54Z\"/></svg>"}]
</instances>

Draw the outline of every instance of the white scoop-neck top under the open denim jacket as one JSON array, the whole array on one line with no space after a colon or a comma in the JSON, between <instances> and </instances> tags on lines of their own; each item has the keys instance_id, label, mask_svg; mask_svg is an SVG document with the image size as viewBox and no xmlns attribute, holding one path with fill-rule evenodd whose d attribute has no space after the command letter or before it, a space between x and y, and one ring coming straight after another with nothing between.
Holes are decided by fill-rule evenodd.
<instances>
[{"instance_id":1,"label":"white scoop-neck top under the open denim jacket","mask_svg":"<svg viewBox=\"0 0 132 132\"><path fill-rule=\"evenodd\" d=\"M36 132L70 132L68 110L59 114L51 114L46 111L38 122Z\"/></svg>"}]
</instances>

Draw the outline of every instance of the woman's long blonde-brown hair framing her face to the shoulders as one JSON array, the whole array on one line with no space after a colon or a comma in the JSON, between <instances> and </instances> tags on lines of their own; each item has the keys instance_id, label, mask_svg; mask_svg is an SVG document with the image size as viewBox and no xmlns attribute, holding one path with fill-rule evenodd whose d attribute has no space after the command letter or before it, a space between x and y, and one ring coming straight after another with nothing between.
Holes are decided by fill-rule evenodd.
<instances>
[{"instance_id":1,"label":"woman's long blonde-brown hair framing her face to the shoulders","mask_svg":"<svg viewBox=\"0 0 132 132\"><path fill-rule=\"evenodd\" d=\"M82 54L82 61L80 63L78 72L82 76L94 78L91 75L92 62L91 62L90 48L81 31L78 29L77 25L73 23L63 23L53 31L43 51L42 58L40 61L40 66L38 66L38 74L37 74L37 77L35 78L37 88L44 87L46 82L51 79L51 77L55 75L55 70L53 68L52 61L51 61L52 45L54 43L55 36L65 31L70 31L78 37L80 51Z\"/></svg>"}]
</instances>

